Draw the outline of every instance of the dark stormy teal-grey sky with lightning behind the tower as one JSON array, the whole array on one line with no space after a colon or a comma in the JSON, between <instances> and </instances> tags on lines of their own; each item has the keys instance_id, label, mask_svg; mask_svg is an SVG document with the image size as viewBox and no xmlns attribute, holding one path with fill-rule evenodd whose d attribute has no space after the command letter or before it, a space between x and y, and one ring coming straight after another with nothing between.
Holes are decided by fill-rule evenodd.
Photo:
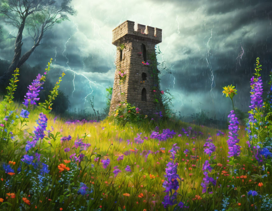
<instances>
[{"instance_id":1,"label":"dark stormy teal-grey sky with lightning behind the tower","mask_svg":"<svg viewBox=\"0 0 272 211\"><path fill-rule=\"evenodd\" d=\"M72 110L88 110L92 96L95 109L105 107L105 88L113 86L115 72L112 30L125 20L162 29L157 59L170 73L162 71L161 89L170 89L173 110L182 116L201 110L217 118L229 113L231 100L222 96L222 87L230 84L238 89L235 106L248 111L256 57L264 85L269 80L271 0L74 0L72 5L77 15L49 30L27 60L46 68L52 57L53 83L65 71L60 89L70 96ZM0 43L0 59L10 61L16 30L1 25L10 39ZM25 52L33 44L27 32L23 42Z\"/></svg>"}]
</instances>

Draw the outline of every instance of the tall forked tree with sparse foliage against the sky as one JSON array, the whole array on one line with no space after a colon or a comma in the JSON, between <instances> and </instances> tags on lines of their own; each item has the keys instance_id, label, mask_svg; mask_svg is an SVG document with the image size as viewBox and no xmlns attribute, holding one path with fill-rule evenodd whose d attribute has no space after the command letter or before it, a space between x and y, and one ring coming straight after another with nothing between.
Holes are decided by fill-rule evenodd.
<instances>
[{"instance_id":1,"label":"tall forked tree with sparse foliage against the sky","mask_svg":"<svg viewBox=\"0 0 272 211\"><path fill-rule=\"evenodd\" d=\"M40 45L44 33L55 23L75 15L72 0L0 0L0 19L18 29L14 45L14 57L8 70L0 77L0 84L8 84L11 74L30 57ZM21 56L24 29L34 41L33 46Z\"/></svg>"}]
</instances>

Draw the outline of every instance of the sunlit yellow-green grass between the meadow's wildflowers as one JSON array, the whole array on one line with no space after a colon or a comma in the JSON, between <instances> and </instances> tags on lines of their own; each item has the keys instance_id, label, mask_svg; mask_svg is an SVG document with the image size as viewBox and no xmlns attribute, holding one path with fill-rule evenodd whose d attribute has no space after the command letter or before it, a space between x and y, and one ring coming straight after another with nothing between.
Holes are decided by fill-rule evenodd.
<instances>
[{"instance_id":1,"label":"sunlit yellow-green grass between the meadow's wildflowers","mask_svg":"<svg viewBox=\"0 0 272 211\"><path fill-rule=\"evenodd\" d=\"M216 129L172 119L159 122L144 119L143 122L127 123L125 126L116 125L109 118L97 123L65 124L64 120L59 119L54 122L55 116L48 114L47 129L52 130L52 126L54 131L51 133L55 135L60 132L60 134L55 140L46 136L37 143L35 148L30 150L31 153L28 153L41 154L41 161L45 162L50 170L49 174L45 175L43 183L39 184L37 170L35 171L31 165L20 161L22 156L26 154L26 141L31 139L28 133L32 133L34 126L37 126L35 121L38 114L38 110L30 113L29 122L22 131L19 130L20 122L17 124L17 127L14 128L14 134L16 134L14 140L1 152L1 165L7 164L9 161L16 162L14 166L11 165L15 172L14 176L5 173L3 168L0 170L0 176L3 178L3 181L0 181L0 198L4 200L0 204L1 210L59 210L59 208L63 208L63 210L96 210L99 209L99 206L102 206L100 210L165 210L161 203L166 195L165 188L162 187L162 180L166 179L164 177L165 168L170 161L168 150L172 148L174 143L180 147L175 160L179 164L178 175L182 178L179 180L178 202L182 201L186 206L189 206L184 210L221 210L223 209L221 203L224 196L230 198L226 210L261 210L260 197L254 197L253 200L252 196L247 197L247 192L256 190L261 195L272 194L272 178L271 174L267 173L267 171L271 171L271 166L266 165L267 169L262 170L262 166L258 165L256 159L251 159L252 153L246 144L247 135L244 126L240 126L239 132L239 145L242 146L241 156L234 160L234 165L229 165L226 135L216 136ZM0 117L3 119L3 114L0 114ZM150 139L150 134L156 126L159 127L160 133L162 129L169 128L177 134L167 141L159 142L156 139ZM196 138L192 138L193 135L185 136L182 128L186 129L188 126L191 126L194 131L201 131L203 135L198 135ZM227 134L228 131L224 130L223 132ZM142 144L134 143L137 133L142 133L141 137L146 136L148 139L144 140ZM182 136L178 137L178 134L182 134ZM71 141L61 144L61 136L68 135L71 135ZM203 151L203 145L208 135L211 135L213 143L217 147L211 157L208 157ZM77 137L83 138L84 143L90 143L91 146L82 151L85 154L82 162L71 160L71 163L65 164L64 160L70 160L71 154L79 154L79 149L73 148ZM133 141L132 145L127 144L128 139ZM71 151L65 153L64 149L67 147ZM116 161L118 155L130 149L135 150L135 148L139 151L136 153L131 151L131 154L124 155L122 161ZM162 152L160 148L165 148L165 152ZM187 157L183 153L185 149L190 150ZM143 150L153 152L159 150L159 152L149 154L145 159L143 155L140 155ZM191 155L196 157L192 159ZM100 160L109 158L110 165L104 169L101 163L94 161L97 157L100 157ZM210 186L207 193L201 194L202 164L205 160L210 160L210 163L214 164L214 170L209 176L214 179L218 176L218 179L215 187ZM70 170L59 172L58 165L61 163L68 166ZM22 170L17 173L20 164L22 164ZM112 172L116 165L122 172L114 177ZM132 172L125 171L127 165L131 166ZM234 173L235 169L236 173ZM32 170L32 173L27 174L28 170ZM223 170L230 175L224 176ZM244 181L241 178L236 178L241 175L247 175L247 178ZM266 176L262 178L262 175ZM233 176L234 178L232 178ZM87 194L84 196L78 194L80 182L85 183L89 190L92 190L88 196ZM263 182L264 186L259 187L259 182ZM4 185L5 183L9 183L9 185ZM210 191L213 193L209 194ZM9 192L15 193L16 197L6 199L6 193ZM129 196L124 196L125 193L128 193ZM141 193L143 197L138 197ZM194 199L196 195L201 196L201 199ZM23 197L29 199L31 205L24 203ZM241 206L238 203L241 203ZM254 204L253 207L251 204ZM168 208L168 210L174 209L174 206ZM176 210L178 210L177 207Z\"/></svg>"}]
</instances>

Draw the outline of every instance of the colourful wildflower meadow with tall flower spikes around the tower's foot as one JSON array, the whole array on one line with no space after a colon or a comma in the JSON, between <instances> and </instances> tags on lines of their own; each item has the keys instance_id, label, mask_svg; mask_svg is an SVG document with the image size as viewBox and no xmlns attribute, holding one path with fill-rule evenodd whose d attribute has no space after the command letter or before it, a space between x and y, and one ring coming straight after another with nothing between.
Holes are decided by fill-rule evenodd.
<instances>
[{"instance_id":1,"label":"colourful wildflower meadow with tall flower spikes around the tower's foot","mask_svg":"<svg viewBox=\"0 0 272 211\"><path fill-rule=\"evenodd\" d=\"M56 117L65 73L39 101L51 62L20 103L16 69L0 102L1 211L272 210L272 74L264 93L259 58L245 125L233 104L239 89L222 84L232 101L226 130L127 102L103 121Z\"/></svg>"}]
</instances>

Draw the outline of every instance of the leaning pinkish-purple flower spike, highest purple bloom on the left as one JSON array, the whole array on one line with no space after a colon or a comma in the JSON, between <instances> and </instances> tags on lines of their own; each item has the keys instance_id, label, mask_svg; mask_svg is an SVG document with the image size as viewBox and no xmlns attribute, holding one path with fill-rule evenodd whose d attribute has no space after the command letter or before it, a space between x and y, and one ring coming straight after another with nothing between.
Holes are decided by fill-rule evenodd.
<instances>
[{"instance_id":1,"label":"leaning pinkish-purple flower spike, highest purple bloom on the left","mask_svg":"<svg viewBox=\"0 0 272 211\"><path fill-rule=\"evenodd\" d=\"M28 91L26 93L26 96L24 98L24 102L23 104L28 107L28 104L30 102L30 104L32 105L36 105L36 101L40 100L40 98L38 98L39 96L39 92L41 89L43 89L42 85L44 84L44 82L41 80L43 76L41 76L40 74L37 75L36 79L33 80L33 82L31 83L31 85L29 85Z\"/></svg>"}]
</instances>

